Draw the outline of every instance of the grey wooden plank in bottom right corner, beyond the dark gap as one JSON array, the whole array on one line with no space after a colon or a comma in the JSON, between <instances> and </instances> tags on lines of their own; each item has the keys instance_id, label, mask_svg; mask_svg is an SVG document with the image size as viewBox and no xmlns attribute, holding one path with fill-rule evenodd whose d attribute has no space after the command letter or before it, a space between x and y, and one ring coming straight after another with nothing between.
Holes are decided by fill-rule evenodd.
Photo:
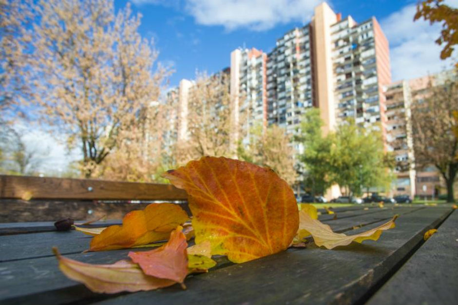
<instances>
[{"instance_id":1,"label":"grey wooden plank in bottom right corner, beyond the dark gap","mask_svg":"<svg viewBox=\"0 0 458 305\"><path fill-rule=\"evenodd\" d=\"M458 211L455 210L366 304L458 304L457 283Z\"/></svg>"}]
</instances>

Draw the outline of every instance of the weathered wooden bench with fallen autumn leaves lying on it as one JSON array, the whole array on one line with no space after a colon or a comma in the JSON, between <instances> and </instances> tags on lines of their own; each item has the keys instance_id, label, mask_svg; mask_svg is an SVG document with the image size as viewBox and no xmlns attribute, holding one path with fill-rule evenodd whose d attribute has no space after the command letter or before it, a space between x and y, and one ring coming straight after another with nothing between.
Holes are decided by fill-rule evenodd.
<instances>
[{"instance_id":1,"label":"weathered wooden bench with fallen autumn leaves lying on it","mask_svg":"<svg viewBox=\"0 0 458 305\"><path fill-rule=\"evenodd\" d=\"M76 199L87 204L88 198L186 198L182 191L168 185L129 184L122 189L127 184L84 180L64 184L59 179L26 179L33 181L33 188L18 177L0 177L1 210L19 202L21 192L29 189L33 190L32 198L38 198L29 203L49 201L47 194L55 191L58 194L52 199L62 207L77 203ZM47 181L53 187L48 188ZM91 186L93 190L89 194L81 190ZM139 192L141 196L136 193L140 188L143 188ZM152 196L148 195L149 188ZM103 195L98 195L99 189ZM68 195L73 193L78 197ZM396 228L383 232L377 242L353 243L333 250L314 245L289 248L243 264L232 264L220 257L210 272L188 276L186 290L175 285L115 295L95 294L65 277L51 248L59 248L70 258L97 264L125 258L129 249L81 253L88 248L90 237L80 232L57 232L50 222L3 223L0 225L0 304L458 304L458 212L451 205L386 204L384 208L355 205L334 211L336 219L323 213L320 220L346 234L377 227L394 214L400 217ZM433 228L438 232L424 241L423 234Z\"/></svg>"}]
</instances>

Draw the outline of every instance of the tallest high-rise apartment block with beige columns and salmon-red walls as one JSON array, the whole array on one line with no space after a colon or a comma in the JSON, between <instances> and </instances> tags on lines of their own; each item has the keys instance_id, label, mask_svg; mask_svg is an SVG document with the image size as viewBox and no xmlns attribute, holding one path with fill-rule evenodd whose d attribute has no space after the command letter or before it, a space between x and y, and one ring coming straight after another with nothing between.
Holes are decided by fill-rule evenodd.
<instances>
[{"instance_id":1,"label":"tallest high-rise apartment block with beige columns and salmon-red walls","mask_svg":"<svg viewBox=\"0 0 458 305\"><path fill-rule=\"evenodd\" d=\"M324 133L353 118L385 135L383 86L390 82L388 41L377 20L342 19L325 2L308 24L278 38L268 54L254 48L230 54L233 121L248 133L255 124L277 124L288 134L297 133L306 109L318 107ZM187 94L182 85L180 96ZM185 120L186 105L180 105L179 120ZM185 126L180 124L179 138ZM234 130L234 143L249 140L240 137ZM300 144L294 147L302 152Z\"/></svg>"}]
</instances>

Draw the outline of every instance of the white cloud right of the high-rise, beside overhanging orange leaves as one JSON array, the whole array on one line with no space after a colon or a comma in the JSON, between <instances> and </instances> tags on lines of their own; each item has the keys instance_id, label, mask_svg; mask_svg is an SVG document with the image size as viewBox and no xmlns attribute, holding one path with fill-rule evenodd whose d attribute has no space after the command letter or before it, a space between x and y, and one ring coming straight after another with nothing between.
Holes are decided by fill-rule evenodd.
<instances>
[{"instance_id":1,"label":"white cloud right of the high-rise, beside overhanging orange leaves","mask_svg":"<svg viewBox=\"0 0 458 305\"><path fill-rule=\"evenodd\" d=\"M381 20L382 30L390 43L393 81L409 79L450 69L452 60L441 60L441 47L435 43L441 25L413 21L416 5L404 6Z\"/></svg>"}]
</instances>

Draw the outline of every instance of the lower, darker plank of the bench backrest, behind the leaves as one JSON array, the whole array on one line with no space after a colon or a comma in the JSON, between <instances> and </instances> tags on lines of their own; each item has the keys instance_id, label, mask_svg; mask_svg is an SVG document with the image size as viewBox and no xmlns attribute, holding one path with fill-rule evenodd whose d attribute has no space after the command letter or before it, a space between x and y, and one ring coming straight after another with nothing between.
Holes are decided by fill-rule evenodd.
<instances>
[{"instance_id":1,"label":"lower, darker plank of the bench backrest, behind the leaves","mask_svg":"<svg viewBox=\"0 0 458 305\"><path fill-rule=\"evenodd\" d=\"M0 222L54 222L62 218L87 219L102 216L107 219L122 219L127 212L143 210L147 205L128 202L1 199ZM190 213L188 203L180 206Z\"/></svg>"}]
</instances>

